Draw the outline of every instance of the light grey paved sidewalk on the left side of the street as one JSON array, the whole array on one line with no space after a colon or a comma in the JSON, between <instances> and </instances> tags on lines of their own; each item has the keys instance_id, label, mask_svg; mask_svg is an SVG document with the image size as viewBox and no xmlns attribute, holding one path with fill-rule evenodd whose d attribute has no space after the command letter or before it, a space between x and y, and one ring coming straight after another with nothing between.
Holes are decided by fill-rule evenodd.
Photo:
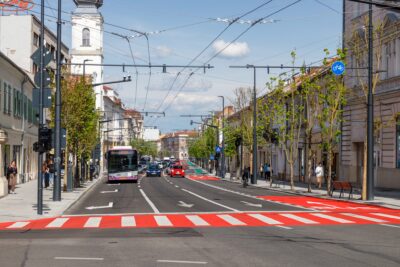
<instances>
[{"instance_id":1,"label":"light grey paved sidewalk on the left side of the street","mask_svg":"<svg viewBox=\"0 0 400 267\"><path fill-rule=\"evenodd\" d=\"M72 192L61 192L61 201L53 201L53 187L43 189L43 215L37 214L38 181L18 184L16 194L7 195L0 199L0 222L42 219L62 215L87 190L101 178L88 181Z\"/></svg>"}]
</instances>

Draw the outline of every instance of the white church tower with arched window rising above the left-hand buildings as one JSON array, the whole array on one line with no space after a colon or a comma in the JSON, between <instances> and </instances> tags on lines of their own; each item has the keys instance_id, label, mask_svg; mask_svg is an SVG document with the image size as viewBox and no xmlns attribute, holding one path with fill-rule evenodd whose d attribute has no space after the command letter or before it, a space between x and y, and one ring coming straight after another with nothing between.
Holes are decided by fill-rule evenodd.
<instances>
[{"instance_id":1,"label":"white church tower with arched window rising above the left-hand buildings","mask_svg":"<svg viewBox=\"0 0 400 267\"><path fill-rule=\"evenodd\" d=\"M103 82L103 16L99 8L103 0L74 0L76 9L72 13L71 72L76 75L91 76L93 83ZM96 108L103 109L103 86L94 87Z\"/></svg>"}]
</instances>

